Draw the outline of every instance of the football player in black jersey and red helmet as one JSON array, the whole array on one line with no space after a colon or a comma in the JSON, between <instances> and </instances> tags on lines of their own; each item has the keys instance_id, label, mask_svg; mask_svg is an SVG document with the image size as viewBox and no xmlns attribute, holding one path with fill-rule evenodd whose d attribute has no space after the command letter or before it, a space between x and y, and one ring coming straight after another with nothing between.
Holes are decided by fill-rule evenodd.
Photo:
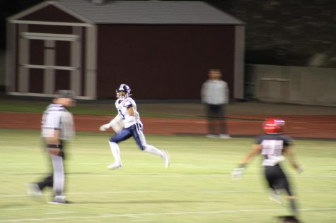
<instances>
[{"instance_id":1,"label":"football player in black jersey and red helmet","mask_svg":"<svg viewBox=\"0 0 336 223\"><path fill-rule=\"evenodd\" d=\"M291 191L291 186L286 174L280 166L280 162L284 160L284 156L288 157L291 166L297 171L303 171L303 168L294 160L294 155L291 151L292 139L287 135L282 135L284 131L284 120L282 119L267 119L263 123L265 135L257 137L252 150L243 159L239 167L232 171L232 176L237 178L243 175L246 165L253 159L255 155L263 155L265 158L262 161L264 167L265 178L270 187L270 199L281 203L281 191L286 191L291 211L297 215L295 197Z\"/></svg>"}]
</instances>

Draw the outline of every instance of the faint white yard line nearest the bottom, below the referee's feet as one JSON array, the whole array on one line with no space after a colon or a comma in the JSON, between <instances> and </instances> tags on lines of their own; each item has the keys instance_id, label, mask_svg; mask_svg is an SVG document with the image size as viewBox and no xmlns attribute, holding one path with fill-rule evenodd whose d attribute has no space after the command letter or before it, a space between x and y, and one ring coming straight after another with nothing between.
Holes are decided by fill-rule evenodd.
<instances>
[{"instance_id":1,"label":"faint white yard line nearest the bottom, below the referee's feet","mask_svg":"<svg viewBox=\"0 0 336 223\"><path fill-rule=\"evenodd\" d=\"M312 211L331 211L336 210L336 207L323 207L323 208L304 208L300 209L301 212ZM241 213L241 212L281 212L282 209L242 209L242 210L214 210L204 212L145 212L145 213L129 213L129 214L102 214L91 216L67 216L67 217L41 217L41 218L22 218L22 219L6 219L0 222L45 222L50 220L66 220L66 219L99 219L99 218L117 218L117 217L146 217L155 215L218 215L224 213Z\"/></svg>"}]
</instances>

